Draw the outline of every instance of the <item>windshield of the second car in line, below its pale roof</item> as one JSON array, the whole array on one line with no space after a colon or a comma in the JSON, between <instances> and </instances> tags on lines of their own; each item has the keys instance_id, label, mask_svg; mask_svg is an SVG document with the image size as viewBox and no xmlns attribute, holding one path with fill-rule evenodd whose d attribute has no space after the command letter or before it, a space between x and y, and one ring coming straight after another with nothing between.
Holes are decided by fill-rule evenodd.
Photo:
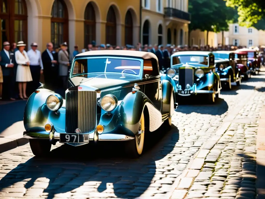
<instances>
[{"instance_id":1,"label":"windshield of the second car in line, below its pale roof","mask_svg":"<svg viewBox=\"0 0 265 199\"><path fill-rule=\"evenodd\" d=\"M172 65L185 64L185 63L196 63L208 66L208 56L198 56L198 55L182 55L175 56L172 58Z\"/></svg>"}]
</instances>

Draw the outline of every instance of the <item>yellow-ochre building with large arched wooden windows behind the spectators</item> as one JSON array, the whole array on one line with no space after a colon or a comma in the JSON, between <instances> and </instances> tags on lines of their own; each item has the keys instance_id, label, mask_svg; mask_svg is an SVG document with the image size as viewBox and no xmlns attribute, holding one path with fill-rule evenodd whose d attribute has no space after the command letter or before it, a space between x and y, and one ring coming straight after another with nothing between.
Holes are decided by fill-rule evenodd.
<instances>
[{"instance_id":1,"label":"yellow-ochre building with large arched wooden windows behind the spectators","mask_svg":"<svg viewBox=\"0 0 265 199\"><path fill-rule=\"evenodd\" d=\"M23 40L87 48L96 44L136 45L140 41L140 1L0 0L1 44ZM1 46L2 48L2 46Z\"/></svg>"}]
</instances>

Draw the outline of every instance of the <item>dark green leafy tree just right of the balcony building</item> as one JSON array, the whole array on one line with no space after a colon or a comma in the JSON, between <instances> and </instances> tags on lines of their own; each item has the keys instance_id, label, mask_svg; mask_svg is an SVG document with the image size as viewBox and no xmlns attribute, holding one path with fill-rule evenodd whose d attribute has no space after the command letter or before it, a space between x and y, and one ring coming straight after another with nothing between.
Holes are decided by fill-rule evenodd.
<instances>
[{"instance_id":1,"label":"dark green leafy tree just right of the balcony building","mask_svg":"<svg viewBox=\"0 0 265 199\"><path fill-rule=\"evenodd\" d=\"M196 29L207 31L207 44L209 31L227 31L228 24L237 18L237 11L227 7L224 0L189 0L189 12L192 17L189 33Z\"/></svg>"}]
</instances>

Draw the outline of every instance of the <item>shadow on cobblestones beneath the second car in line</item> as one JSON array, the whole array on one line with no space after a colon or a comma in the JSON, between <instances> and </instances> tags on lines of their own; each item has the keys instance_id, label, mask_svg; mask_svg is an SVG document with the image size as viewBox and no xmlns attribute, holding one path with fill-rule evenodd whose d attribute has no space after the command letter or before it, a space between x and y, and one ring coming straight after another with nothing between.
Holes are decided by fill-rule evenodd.
<instances>
[{"instance_id":1,"label":"shadow on cobblestones beneath the second car in line","mask_svg":"<svg viewBox=\"0 0 265 199\"><path fill-rule=\"evenodd\" d=\"M192 112L208 115L222 115L228 110L228 105L224 99L219 98L214 104L207 104L206 101L199 102L186 101L185 104L180 104L177 112L191 114Z\"/></svg>"}]
</instances>

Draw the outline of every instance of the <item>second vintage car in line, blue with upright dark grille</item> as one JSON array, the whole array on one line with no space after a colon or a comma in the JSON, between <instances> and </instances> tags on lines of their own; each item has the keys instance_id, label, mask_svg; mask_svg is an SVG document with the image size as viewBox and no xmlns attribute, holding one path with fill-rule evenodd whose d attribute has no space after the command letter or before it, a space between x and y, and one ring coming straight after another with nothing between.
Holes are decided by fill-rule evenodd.
<instances>
[{"instance_id":1,"label":"second vintage car in line, blue with upright dark grille","mask_svg":"<svg viewBox=\"0 0 265 199\"><path fill-rule=\"evenodd\" d=\"M167 80L178 96L201 95L214 103L219 97L221 82L215 72L214 54L206 51L181 51L171 55Z\"/></svg>"}]
</instances>

